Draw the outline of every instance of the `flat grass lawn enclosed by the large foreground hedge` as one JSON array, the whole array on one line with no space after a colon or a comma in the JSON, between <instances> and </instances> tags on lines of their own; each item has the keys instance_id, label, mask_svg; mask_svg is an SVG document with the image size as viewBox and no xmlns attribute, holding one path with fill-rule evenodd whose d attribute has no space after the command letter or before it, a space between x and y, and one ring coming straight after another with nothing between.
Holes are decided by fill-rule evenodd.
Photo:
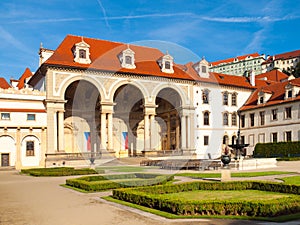
<instances>
[{"instance_id":1,"label":"flat grass lawn enclosed by the large foreground hedge","mask_svg":"<svg viewBox=\"0 0 300 225\"><path fill-rule=\"evenodd\" d=\"M273 200L279 198L287 198L291 194L283 194L277 192L267 192L258 190L244 190L244 191L188 191L180 193L164 194L170 199L179 200L234 200L234 201L256 201L256 200Z\"/></svg>"}]
</instances>

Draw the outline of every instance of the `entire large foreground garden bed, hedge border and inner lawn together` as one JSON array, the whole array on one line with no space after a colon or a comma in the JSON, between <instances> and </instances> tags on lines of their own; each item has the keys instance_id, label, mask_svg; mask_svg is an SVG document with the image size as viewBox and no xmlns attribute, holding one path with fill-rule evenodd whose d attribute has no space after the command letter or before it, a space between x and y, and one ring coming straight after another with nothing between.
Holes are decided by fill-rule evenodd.
<instances>
[{"instance_id":1,"label":"entire large foreground garden bed, hedge border and inner lawn together","mask_svg":"<svg viewBox=\"0 0 300 225\"><path fill-rule=\"evenodd\" d=\"M203 193L200 194L199 191ZM215 198L206 198L205 191L216 191ZM253 196L254 192L256 195L260 193L260 197L247 197ZM241 193L244 196L235 199L234 196ZM242 181L191 182L116 189L113 190L112 197L182 216L277 217L300 212L299 194L300 186L297 185Z\"/></svg>"}]
</instances>

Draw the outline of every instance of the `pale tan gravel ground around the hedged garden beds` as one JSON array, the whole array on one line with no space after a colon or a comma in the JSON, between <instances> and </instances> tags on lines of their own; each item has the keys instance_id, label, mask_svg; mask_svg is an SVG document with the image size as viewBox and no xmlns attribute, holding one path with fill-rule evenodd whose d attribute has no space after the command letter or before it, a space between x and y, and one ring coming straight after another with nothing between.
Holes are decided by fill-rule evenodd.
<instances>
[{"instance_id":1,"label":"pale tan gravel ground around the hedged garden beds","mask_svg":"<svg viewBox=\"0 0 300 225\"><path fill-rule=\"evenodd\" d=\"M299 163L278 170L299 172ZM286 168L286 169L284 169ZM269 169L270 170L270 169ZM240 220L168 220L101 200L106 193L83 194L59 186L67 177L30 177L17 171L0 171L1 225L248 225L265 223ZM296 225L300 221L280 223Z\"/></svg>"}]
</instances>

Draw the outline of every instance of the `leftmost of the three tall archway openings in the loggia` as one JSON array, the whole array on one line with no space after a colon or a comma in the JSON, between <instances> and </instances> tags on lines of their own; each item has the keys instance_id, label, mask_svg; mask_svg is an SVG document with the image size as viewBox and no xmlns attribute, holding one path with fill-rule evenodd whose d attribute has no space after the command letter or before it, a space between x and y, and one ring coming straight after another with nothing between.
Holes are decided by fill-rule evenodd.
<instances>
[{"instance_id":1,"label":"leftmost of the three tall archway openings in the loggia","mask_svg":"<svg viewBox=\"0 0 300 225\"><path fill-rule=\"evenodd\" d=\"M66 153L100 152L100 101L98 89L85 80L65 91L64 147Z\"/></svg>"}]
</instances>

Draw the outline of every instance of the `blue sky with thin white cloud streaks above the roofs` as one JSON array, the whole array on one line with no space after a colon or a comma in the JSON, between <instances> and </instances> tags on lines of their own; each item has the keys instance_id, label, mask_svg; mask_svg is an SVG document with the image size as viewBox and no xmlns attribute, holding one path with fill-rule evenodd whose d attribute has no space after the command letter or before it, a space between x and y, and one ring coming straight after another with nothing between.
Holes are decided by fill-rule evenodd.
<instances>
[{"instance_id":1,"label":"blue sky with thin white cloud streaks above the roofs","mask_svg":"<svg viewBox=\"0 0 300 225\"><path fill-rule=\"evenodd\" d=\"M38 68L40 43L67 34L161 47L175 62L300 49L298 0L11 0L0 2L0 76ZM182 54L184 49L187 54Z\"/></svg>"}]
</instances>

